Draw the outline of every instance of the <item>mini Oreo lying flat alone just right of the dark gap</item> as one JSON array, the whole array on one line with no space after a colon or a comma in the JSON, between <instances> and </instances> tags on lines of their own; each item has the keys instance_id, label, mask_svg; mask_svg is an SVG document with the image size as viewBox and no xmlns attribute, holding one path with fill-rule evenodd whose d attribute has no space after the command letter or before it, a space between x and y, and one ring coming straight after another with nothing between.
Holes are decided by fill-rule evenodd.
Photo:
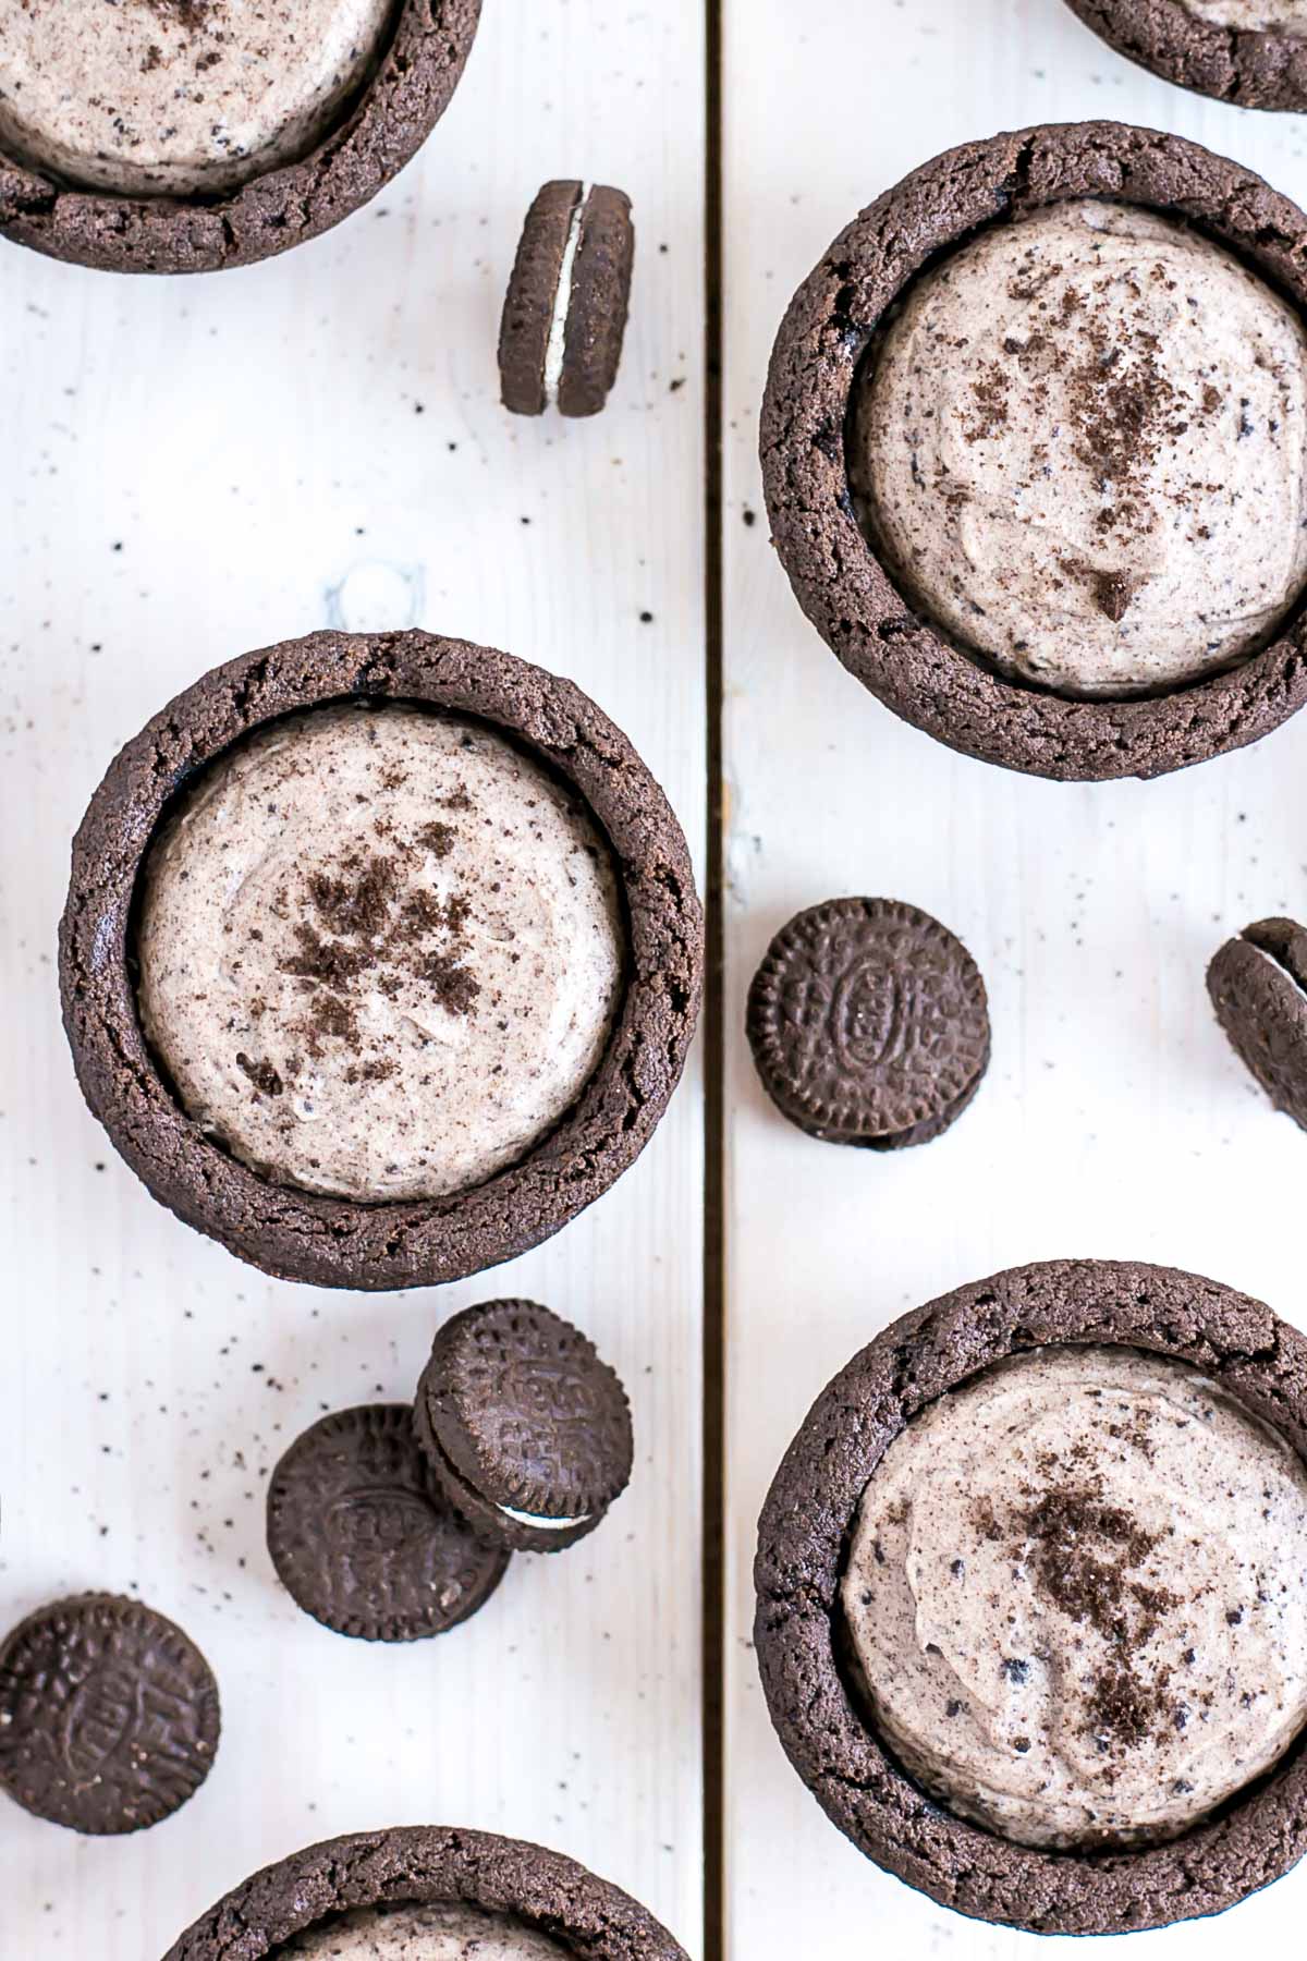
<instances>
[{"instance_id":1,"label":"mini Oreo lying flat alone just right of the dark gap","mask_svg":"<svg viewBox=\"0 0 1307 1961\"><path fill-rule=\"evenodd\" d=\"M790 920L754 975L747 1031L782 1116L872 1151L939 1137L990 1067L980 969L939 920L892 898Z\"/></svg>"}]
</instances>

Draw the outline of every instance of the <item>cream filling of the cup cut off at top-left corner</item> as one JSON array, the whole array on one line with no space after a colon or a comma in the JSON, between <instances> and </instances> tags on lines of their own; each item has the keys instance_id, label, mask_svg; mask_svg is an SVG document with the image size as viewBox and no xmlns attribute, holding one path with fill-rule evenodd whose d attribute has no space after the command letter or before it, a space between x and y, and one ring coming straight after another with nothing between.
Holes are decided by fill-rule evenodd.
<instances>
[{"instance_id":1,"label":"cream filling of the cup cut off at top-left corner","mask_svg":"<svg viewBox=\"0 0 1307 1961\"><path fill-rule=\"evenodd\" d=\"M233 190L304 157L394 0L0 0L0 147L131 196Z\"/></svg>"}]
</instances>

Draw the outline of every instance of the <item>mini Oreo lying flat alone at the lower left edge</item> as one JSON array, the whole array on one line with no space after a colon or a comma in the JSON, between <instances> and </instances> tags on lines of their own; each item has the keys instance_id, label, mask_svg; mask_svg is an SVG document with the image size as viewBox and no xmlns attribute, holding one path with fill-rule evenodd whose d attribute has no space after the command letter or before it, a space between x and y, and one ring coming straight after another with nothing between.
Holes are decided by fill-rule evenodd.
<instances>
[{"instance_id":1,"label":"mini Oreo lying flat alone at the lower left edge","mask_svg":"<svg viewBox=\"0 0 1307 1961\"><path fill-rule=\"evenodd\" d=\"M170 1818L210 1775L219 1728L208 1661L139 1600L57 1600L0 1643L0 1790L71 1832Z\"/></svg>"}]
</instances>

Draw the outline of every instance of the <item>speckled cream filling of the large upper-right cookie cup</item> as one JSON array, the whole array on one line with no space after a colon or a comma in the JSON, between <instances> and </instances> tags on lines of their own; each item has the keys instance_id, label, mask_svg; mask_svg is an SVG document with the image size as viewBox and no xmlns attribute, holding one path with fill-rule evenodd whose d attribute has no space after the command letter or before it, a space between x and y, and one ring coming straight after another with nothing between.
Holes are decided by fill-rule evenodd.
<instances>
[{"instance_id":1,"label":"speckled cream filling of the large upper-right cookie cup","mask_svg":"<svg viewBox=\"0 0 1307 1961\"><path fill-rule=\"evenodd\" d=\"M1044 206L909 292L848 469L907 596L1001 673L1178 686L1266 645L1307 582L1307 333L1178 222Z\"/></svg>"}]
</instances>

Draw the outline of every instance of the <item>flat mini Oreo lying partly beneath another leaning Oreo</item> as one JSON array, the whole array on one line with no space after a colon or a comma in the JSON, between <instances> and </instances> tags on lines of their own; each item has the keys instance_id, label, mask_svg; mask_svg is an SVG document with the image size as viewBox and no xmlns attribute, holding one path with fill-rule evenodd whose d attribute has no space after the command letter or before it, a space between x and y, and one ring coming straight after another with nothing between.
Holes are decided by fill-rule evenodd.
<instances>
[{"instance_id":1,"label":"flat mini Oreo lying partly beneath another leaning Oreo","mask_svg":"<svg viewBox=\"0 0 1307 1961\"><path fill-rule=\"evenodd\" d=\"M402 1402L337 1410L296 1437L268 1484L268 1551L296 1606L363 1641L445 1634L508 1569L445 1502Z\"/></svg>"}]
</instances>

